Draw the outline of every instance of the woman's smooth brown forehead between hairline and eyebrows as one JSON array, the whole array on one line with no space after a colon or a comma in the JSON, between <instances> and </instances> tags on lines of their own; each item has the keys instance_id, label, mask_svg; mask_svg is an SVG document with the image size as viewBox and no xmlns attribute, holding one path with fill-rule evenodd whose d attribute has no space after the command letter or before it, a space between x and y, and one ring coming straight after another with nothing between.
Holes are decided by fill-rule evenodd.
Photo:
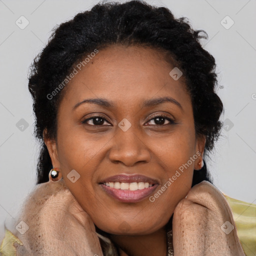
<instances>
[{"instance_id":1,"label":"woman's smooth brown forehead between hairline and eyebrows","mask_svg":"<svg viewBox=\"0 0 256 256\"><path fill-rule=\"evenodd\" d=\"M83 65L79 65L80 70L74 66L77 73L65 91L64 98L72 104L90 97L108 98L118 105L141 105L145 99L156 96L189 99L183 77L174 80L169 75L175 66L156 49L111 45L87 58Z\"/></svg>"}]
</instances>

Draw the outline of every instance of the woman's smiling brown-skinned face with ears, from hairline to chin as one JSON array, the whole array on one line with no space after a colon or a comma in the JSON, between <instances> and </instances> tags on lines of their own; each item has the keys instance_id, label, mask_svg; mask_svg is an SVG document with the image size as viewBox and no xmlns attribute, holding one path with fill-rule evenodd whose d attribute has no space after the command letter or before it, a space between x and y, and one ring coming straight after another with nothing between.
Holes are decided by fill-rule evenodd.
<instances>
[{"instance_id":1,"label":"woman's smiling brown-skinned face with ears, from hairline to chin","mask_svg":"<svg viewBox=\"0 0 256 256\"><path fill-rule=\"evenodd\" d=\"M195 136L191 100L173 68L157 50L113 45L66 85L56 141L45 143L73 196L106 232L164 226L199 169L205 140Z\"/></svg>"}]
</instances>

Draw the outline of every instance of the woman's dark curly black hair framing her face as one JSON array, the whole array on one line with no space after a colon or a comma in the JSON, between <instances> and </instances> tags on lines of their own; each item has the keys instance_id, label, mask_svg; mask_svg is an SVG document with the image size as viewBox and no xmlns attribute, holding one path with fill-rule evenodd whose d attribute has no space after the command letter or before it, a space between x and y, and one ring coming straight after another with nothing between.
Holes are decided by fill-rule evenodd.
<instances>
[{"instance_id":1,"label":"woman's dark curly black hair framing her face","mask_svg":"<svg viewBox=\"0 0 256 256\"><path fill-rule=\"evenodd\" d=\"M215 59L199 42L207 38L204 30L193 30L187 18L175 18L165 7L143 1L99 2L91 10L76 14L54 28L47 45L35 57L29 72L28 88L33 98L35 136L40 142L37 183L48 181L52 163L43 142L43 130L56 137L57 109L65 88L49 100L51 93L70 70L94 49L113 44L149 46L168 53L168 60L183 73L190 94L197 135L206 137L205 151L213 149L222 123L222 102L215 93ZM68 86L68 84L66 85ZM204 162L194 171L192 186L211 182Z\"/></svg>"}]
</instances>

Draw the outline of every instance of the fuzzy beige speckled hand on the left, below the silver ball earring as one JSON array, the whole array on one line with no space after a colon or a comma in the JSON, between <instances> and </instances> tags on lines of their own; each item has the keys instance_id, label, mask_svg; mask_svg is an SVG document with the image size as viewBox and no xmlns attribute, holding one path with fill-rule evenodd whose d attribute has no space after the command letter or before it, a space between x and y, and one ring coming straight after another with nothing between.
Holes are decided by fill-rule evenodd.
<instances>
[{"instance_id":1,"label":"fuzzy beige speckled hand on the left, below the silver ball earring","mask_svg":"<svg viewBox=\"0 0 256 256\"><path fill-rule=\"evenodd\" d=\"M17 234L18 256L103 256L91 218L62 182L39 184L28 198L20 220L29 229Z\"/></svg>"}]
</instances>

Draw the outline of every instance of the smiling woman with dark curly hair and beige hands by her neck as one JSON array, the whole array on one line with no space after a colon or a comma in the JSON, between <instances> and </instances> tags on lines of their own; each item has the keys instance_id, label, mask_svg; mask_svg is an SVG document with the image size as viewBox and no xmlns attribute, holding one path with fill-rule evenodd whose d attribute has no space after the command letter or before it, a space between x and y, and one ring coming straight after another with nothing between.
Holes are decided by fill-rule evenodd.
<instances>
[{"instance_id":1,"label":"smiling woman with dark curly hair and beige hands by her neck","mask_svg":"<svg viewBox=\"0 0 256 256\"><path fill-rule=\"evenodd\" d=\"M200 32L141 1L55 29L28 84L38 184L2 253L245 255L203 161L222 102Z\"/></svg>"}]
</instances>

